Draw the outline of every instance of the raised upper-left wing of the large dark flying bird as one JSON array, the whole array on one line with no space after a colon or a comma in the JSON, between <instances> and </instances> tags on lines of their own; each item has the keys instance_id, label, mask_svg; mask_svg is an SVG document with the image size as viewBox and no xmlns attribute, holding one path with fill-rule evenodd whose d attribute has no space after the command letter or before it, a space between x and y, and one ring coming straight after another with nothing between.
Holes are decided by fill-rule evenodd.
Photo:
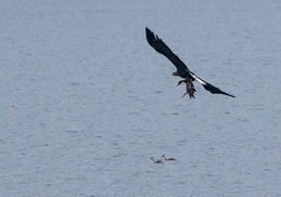
<instances>
[{"instance_id":1,"label":"raised upper-left wing of the large dark flying bird","mask_svg":"<svg viewBox=\"0 0 281 197\"><path fill-rule=\"evenodd\" d=\"M188 71L186 64L166 45L157 35L154 35L148 27L145 27L146 40L149 44L155 49L158 53L165 55L178 70Z\"/></svg>"}]
</instances>

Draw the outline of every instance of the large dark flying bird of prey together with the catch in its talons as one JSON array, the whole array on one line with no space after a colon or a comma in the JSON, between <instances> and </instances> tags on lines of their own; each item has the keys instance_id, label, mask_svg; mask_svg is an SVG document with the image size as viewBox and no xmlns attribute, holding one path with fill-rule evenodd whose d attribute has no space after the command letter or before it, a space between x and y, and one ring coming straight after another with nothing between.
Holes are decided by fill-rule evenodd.
<instances>
[{"instance_id":1,"label":"large dark flying bird of prey together with the catch in its talons","mask_svg":"<svg viewBox=\"0 0 281 197\"><path fill-rule=\"evenodd\" d=\"M189 68L186 66L186 64L175 54L173 51L162 41L161 38L157 37L157 35L154 35L148 27L145 27L146 32L146 40L149 44L155 49L158 53L165 55L176 67L177 71L173 73L173 76L179 76L183 78L184 80L181 80L178 82L178 86L184 82L187 84L187 93L189 94L190 98L194 97L194 92L196 91L194 89L193 82L196 80L199 83L201 83L207 91L209 91L213 94L225 94L231 97L235 97L231 94L228 94L217 87L214 87L213 84L209 84L208 82L204 81L203 79L199 78L195 74L189 70ZM183 97L182 96L182 97Z\"/></svg>"}]
</instances>

